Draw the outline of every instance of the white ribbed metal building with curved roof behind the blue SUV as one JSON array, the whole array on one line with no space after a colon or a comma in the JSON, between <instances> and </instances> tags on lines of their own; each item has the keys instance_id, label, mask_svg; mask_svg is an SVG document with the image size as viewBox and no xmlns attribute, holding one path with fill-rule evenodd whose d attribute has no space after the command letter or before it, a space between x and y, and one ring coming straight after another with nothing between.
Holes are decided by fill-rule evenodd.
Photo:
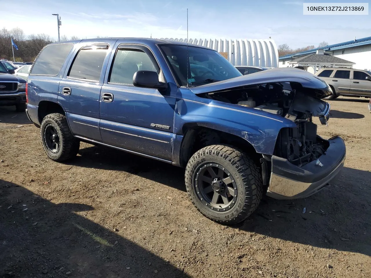
<instances>
[{"instance_id":1,"label":"white ribbed metal building with curved roof behind the blue SUV","mask_svg":"<svg viewBox=\"0 0 371 278\"><path fill-rule=\"evenodd\" d=\"M187 42L187 39L161 39ZM190 39L189 43L227 53L234 66L278 67L278 50L272 39Z\"/></svg>"}]
</instances>

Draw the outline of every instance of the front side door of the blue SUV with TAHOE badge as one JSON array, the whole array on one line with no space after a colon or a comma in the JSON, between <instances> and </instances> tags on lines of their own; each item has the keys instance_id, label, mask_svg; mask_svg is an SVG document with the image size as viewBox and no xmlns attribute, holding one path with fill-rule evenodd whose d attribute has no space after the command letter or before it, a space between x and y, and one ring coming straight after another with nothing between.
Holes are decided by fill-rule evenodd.
<instances>
[{"instance_id":1,"label":"front side door of the blue SUV with TAHOE badge","mask_svg":"<svg viewBox=\"0 0 371 278\"><path fill-rule=\"evenodd\" d=\"M171 160L175 97L133 85L138 70L160 73L151 51L120 44L101 91L102 140L112 146Z\"/></svg>"}]
</instances>

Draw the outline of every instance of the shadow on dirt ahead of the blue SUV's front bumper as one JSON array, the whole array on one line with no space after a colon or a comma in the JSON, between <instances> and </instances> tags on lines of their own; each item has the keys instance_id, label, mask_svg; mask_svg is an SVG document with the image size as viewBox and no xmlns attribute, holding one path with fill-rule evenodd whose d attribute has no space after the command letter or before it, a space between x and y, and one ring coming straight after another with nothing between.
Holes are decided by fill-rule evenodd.
<instances>
[{"instance_id":1,"label":"shadow on dirt ahead of the blue SUV's front bumper","mask_svg":"<svg viewBox=\"0 0 371 278\"><path fill-rule=\"evenodd\" d=\"M344 168L334 185L309 198L292 201L263 198L255 213L236 228L371 256L370 181L371 172Z\"/></svg>"}]
</instances>

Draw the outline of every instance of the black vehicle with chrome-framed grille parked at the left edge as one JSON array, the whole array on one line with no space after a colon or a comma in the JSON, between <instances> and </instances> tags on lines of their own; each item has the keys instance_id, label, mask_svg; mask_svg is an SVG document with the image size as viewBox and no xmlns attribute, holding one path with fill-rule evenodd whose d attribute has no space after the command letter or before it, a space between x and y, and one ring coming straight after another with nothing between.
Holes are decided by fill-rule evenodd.
<instances>
[{"instance_id":1,"label":"black vehicle with chrome-framed grille parked at the left edge","mask_svg":"<svg viewBox=\"0 0 371 278\"><path fill-rule=\"evenodd\" d=\"M0 63L0 106L15 105L17 112L26 111L26 80L17 77Z\"/></svg>"}]
</instances>

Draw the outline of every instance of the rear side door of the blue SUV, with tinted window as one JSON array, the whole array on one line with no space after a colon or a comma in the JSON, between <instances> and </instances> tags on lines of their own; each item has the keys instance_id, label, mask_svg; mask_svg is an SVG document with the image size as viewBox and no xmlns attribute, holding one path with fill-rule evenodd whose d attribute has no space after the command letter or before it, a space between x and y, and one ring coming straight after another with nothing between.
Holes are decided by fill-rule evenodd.
<instances>
[{"instance_id":1,"label":"rear side door of the blue SUV, with tinted window","mask_svg":"<svg viewBox=\"0 0 371 278\"><path fill-rule=\"evenodd\" d=\"M101 141L99 97L105 74L102 68L111 50L108 43L85 44L76 49L59 83L58 103L64 107L74 135Z\"/></svg>"}]
</instances>

